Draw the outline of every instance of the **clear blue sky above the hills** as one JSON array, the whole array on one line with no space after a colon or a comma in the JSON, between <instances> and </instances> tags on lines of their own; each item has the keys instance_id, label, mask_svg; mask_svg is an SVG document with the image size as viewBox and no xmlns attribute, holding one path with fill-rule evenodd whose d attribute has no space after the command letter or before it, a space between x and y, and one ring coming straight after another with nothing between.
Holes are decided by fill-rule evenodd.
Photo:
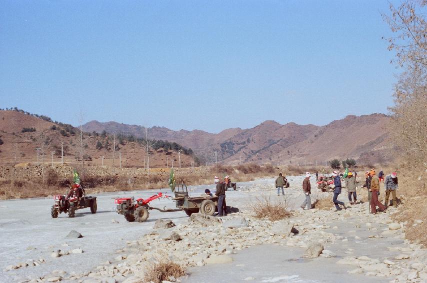
<instances>
[{"instance_id":1,"label":"clear blue sky above the hills","mask_svg":"<svg viewBox=\"0 0 427 283\"><path fill-rule=\"evenodd\" d=\"M387 113L387 1L0 1L0 107L219 132Z\"/></svg>"}]
</instances>

